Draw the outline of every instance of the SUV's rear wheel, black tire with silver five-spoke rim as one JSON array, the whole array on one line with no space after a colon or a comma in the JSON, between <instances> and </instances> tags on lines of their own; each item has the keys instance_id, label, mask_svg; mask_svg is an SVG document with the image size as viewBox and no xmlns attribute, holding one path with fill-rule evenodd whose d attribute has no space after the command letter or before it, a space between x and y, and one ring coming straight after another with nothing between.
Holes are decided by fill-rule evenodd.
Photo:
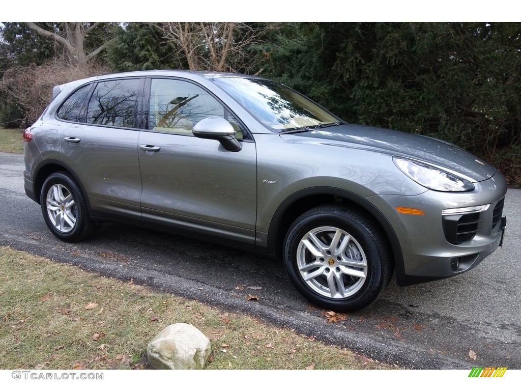
<instances>
[{"instance_id":1,"label":"SUV's rear wheel, black tire with silver five-spoke rim","mask_svg":"<svg viewBox=\"0 0 521 391\"><path fill-rule=\"evenodd\" d=\"M78 182L65 171L47 177L40 194L40 205L47 227L61 240L81 241L97 230L98 226L89 217Z\"/></svg>"}]
</instances>

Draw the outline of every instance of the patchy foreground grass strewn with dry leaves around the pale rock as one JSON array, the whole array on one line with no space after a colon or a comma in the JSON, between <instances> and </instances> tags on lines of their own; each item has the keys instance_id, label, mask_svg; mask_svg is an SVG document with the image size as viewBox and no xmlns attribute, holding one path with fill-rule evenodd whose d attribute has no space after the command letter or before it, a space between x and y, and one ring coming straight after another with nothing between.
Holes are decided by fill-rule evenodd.
<instances>
[{"instance_id":1,"label":"patchy foreground grass strewn with dry leaves around the pale rock","mask_svg":"<svg viewBox=\"0 0 521 391\"><path fill-rule=\"evenodd\" d=\"M147 369L148 342L180 322L212 341L207 369L393 368L249 316L0 247L2 369Z\"/></svg>"}]
</instances>

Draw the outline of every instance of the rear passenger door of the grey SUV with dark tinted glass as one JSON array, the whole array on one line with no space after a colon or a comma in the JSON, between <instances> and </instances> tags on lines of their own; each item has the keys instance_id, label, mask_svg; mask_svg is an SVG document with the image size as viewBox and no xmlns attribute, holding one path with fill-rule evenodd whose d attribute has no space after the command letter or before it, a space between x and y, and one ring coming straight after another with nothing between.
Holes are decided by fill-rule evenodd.
<instances>
[{"instance_id":1,"label":"rear passenger door of the grey SUV with dark tinted glass","mask_svg":"<svg viewBox=\"0 0 521 391\"><path fill-rule=\"evenodd\" d=\"M136 114L143 83L139 78L92 83L77 91L86 93L81 105L73 93L58 110L59 118L77 122L63 133L62 158L78 176L94 215L141 218Z\"/></svg>"}]
</instances>

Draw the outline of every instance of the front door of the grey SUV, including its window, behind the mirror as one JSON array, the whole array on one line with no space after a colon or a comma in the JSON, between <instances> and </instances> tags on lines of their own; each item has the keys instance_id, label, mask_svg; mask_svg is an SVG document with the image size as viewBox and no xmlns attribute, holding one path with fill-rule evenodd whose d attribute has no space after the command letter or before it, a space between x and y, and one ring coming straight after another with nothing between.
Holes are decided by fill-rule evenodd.
<instances>
[{"instance_id":1,"label":"front door of the grey SUV, including its window, behind the mirror","mask_svg":"<svg viewBox=\"0 0 521 391\"><path fill-rule=\"evenodd\" d=\"M253 247L257 206L253 138L200 85L166 78L147 84L148 124L139 137L143 220ZM241 151L230 152L216 140L193 136L193 126L214 115L236 129Z\"/></svg>"}]
</instances>

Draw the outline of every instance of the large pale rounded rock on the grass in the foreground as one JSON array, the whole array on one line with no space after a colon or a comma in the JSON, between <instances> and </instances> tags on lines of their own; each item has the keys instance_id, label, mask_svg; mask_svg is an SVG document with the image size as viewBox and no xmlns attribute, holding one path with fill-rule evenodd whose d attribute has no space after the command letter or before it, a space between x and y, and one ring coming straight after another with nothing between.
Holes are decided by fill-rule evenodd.
<instances>
[{"instance_id":1,"label":"large pale rounded rock on the grass in the foreground","mask_svg":"<svg viewBox=\"0 0 521 391\"><path fill-rule=\"evenodd\" d=\"M165 327L148 344L148 360L155 369L203 369L210 356L210 340L194 326Z\"/></svg>"}]
</instances>

